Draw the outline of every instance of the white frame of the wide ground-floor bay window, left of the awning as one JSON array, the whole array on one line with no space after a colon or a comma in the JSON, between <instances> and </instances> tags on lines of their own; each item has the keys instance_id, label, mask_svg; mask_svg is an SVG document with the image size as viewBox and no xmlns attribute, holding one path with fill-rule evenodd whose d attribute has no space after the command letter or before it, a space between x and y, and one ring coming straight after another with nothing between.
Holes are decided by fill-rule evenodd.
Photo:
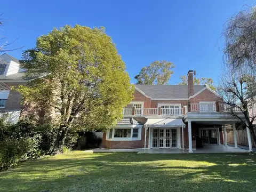
<instances>
[{"instance_id":1,"label":"white frame of the wide ground-floor bay window, left of the awning","mask_svg":"<svg viewBox=\"0 0 256 192\"><path fill-rule=\"evenodd\" d=\"M115 127L111 127L111 129L112 129L112 138L109 138L110 129L108 129L107 134L106 134L107 141L138 141L138 140L141 140L142 125L118 125ZM115 129L131 129L131 137L130 138L114 138ZM133 129L138 129L138 138L132 138Z\"/></svg>"}]
</instances>

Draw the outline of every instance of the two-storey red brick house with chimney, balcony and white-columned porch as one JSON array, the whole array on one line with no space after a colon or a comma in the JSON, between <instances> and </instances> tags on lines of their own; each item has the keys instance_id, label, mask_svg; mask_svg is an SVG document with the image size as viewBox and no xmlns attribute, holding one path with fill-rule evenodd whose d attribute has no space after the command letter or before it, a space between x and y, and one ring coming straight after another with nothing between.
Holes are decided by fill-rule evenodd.
<instances>
[{"instance_id":1,"label":"two-storey red brick house with chimney, balcony and white-columned porch","mask_svg":"<svg viewBox=\"0 0 256 192\"><path fill-rule=\"evenodd\" d=\"M205 145L226 146L226 125L230 124L237 147L238 119L231 116L229 106L206 85L194 85L192 70L187 75L188 85L135 85L134 99L123 109L124 118L103 134L102 147L185 148L193 153ZM247 135L251 142L248 130Z\"/></svg>"}]
</instances>

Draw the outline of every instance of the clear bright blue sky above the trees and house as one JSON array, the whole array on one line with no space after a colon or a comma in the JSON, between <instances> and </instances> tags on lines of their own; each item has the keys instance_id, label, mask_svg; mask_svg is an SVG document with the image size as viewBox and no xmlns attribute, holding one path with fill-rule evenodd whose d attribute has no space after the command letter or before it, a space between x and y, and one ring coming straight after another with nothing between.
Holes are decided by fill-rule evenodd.
<instances>
[{"instance_id":1,"label":"clear bright blue sky above the trees and house","mask_svg":"<svg viewBox=\"0 0 256 192\"><path fill-rule=\"evenodd\" d=\"M26 2L26 3L25 3ZM224 23L255 0L176 1L1 1L9 20L0 31L12 46L35 46L36 38L63 25L106 28L126 63L131 82L140 69L155 60L174 63L170 84L196 70L197 77L217 82L222 65ZM9 52L21 58L22 50Z\"/></svg>"}]
</instances>

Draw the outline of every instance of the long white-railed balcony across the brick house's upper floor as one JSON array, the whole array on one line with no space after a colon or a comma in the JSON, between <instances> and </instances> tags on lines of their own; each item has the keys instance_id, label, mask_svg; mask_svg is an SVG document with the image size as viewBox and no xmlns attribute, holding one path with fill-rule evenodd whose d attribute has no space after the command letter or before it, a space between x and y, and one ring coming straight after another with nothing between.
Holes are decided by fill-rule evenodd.
<instances>
[{"instance_id":1,"label":"long white-railed balcony across the brick house's upper floor","mask_svg":"<svg viewBox=\"0 0 256 192\"><path fill-rule=\"evenodd\" d=\"M241 106L242 107L242 106ZM222 112L228 113L230 110L234 112L241 111L238 107L231 107L223 103L191 103L188 106L179 108L136 108L124 107L124 116L184 116L187 113L213 113Z\"/></svg>"}]
</instances>

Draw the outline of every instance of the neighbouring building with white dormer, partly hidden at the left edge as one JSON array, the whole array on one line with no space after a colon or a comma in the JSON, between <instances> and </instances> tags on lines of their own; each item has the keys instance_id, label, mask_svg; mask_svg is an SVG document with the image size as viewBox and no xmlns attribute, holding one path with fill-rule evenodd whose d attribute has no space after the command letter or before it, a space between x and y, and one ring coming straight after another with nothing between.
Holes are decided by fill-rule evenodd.
<instances>
[{"instance_id":1,"label":"neighbouring building with white dormer, partly hidden at the left edge","mask_svg":"<svg viewBox=\"0 0 256 192\"><path fill-rule=\"evenodd\" d=\"M18 59L6 53L0 55L0 116L7 113L9 122L18 122L23 108L20 93L11 90L11 86L26 85L23 75Z\"/></svg>"}]
</instances>

